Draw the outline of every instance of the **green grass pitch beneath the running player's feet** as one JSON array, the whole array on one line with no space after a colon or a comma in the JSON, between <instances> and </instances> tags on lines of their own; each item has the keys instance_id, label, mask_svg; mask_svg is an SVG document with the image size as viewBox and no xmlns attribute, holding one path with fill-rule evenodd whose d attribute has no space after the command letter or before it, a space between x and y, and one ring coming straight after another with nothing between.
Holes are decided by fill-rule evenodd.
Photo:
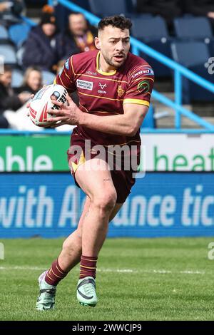
<instances>
[{"instance_id":1,"label":"green grass pitch beneath the running player's feet","mask_svg":"<svg viewBox=\"0 0 214 335\"><path fill-rule=\"evenodd\" d=\"M62 241L1 240L0 320L214 320L214 260L208 259L214 237L107 239L98 259L96 308L76 301L76 267L58 285L56 309L36 311L37 278Z\"/></svg>"}]
</instances>

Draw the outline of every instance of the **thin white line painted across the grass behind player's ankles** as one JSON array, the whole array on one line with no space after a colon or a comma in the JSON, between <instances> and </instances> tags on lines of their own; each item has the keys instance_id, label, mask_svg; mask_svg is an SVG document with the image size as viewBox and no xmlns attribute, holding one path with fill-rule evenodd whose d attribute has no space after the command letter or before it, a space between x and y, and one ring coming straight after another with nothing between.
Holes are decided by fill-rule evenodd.
<instances>
[{"instance_id":1,"label":"thin white line painted across the grass behind player's ankles","mask_svg":"<svg viewBox=\"0 0 214 335\"><path fill-rule=\"evenodd\" d=\"M46 267L0 267L0 270L27 270L27 271L44 271ZM78 269L75 269L79 271ZM184 270L184 271L171 271L165 269L97 269L98 272L113 272L113 273L131 273L131 274L138 274L138 273L145 273L145 274L205 274L203 270Z\"/></svg>"}]
</instances>

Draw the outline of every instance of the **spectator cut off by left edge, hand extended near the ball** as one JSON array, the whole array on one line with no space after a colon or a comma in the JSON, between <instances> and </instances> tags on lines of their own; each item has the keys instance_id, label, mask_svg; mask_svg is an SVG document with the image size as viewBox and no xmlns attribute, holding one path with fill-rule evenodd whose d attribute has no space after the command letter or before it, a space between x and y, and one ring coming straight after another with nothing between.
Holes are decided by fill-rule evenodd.
<instances>
[{"instance_id":1,"label":"spectator cut off by left edge, hand extended near the ball","mask_svg":"<svg viewBox=\"0 0 214 335\"><path fill-rule=\"evenodd\" d=\"M30 93L16 95L11 88L12 70L10 66L4 66L4 73L0 74L0 128L9 128L9 122L5 117L6 110L17 110L30 98Z\"/></svg>"}]
</instances>

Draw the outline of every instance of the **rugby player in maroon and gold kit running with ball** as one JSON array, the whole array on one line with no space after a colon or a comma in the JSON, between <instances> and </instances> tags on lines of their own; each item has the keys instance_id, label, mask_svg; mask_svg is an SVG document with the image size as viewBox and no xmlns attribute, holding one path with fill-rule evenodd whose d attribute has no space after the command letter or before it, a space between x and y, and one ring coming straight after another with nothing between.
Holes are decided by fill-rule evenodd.
<instances>
[{"instance_id":1,"label":"rugby player in maroon and gold kit running with ball","mask_svg":"<svg viewBox=\"0 0 214 335\"><path fill-rule=\"evenodd\" d=\"M60 109L49 113L53 115L51 121L76 125L68 165L76 184L86 193L86 202L77 229L63 242L51 268L39 277L39 310L54 308L58 282L79 262L77 299L87 306L96 306L98 301L98 253L106 239L108 223L135 183L141 149L139 129L148 111L154 81L151 66L129 52L130 29L131 21L123 16L102 19L95 38L97 50L71 56L56 76L56 83L68 91L68 103L54 101ZM79 106L69 96L76 90ZM96 145L103 148L102 156ZM111 151L115 145L128 148L119 158L121 168L119 160L113 160L111 166L108 162L108 157L115 158ZM136 165L124 168L127 158L137 158Z\"/></svg>"}]
</instances>

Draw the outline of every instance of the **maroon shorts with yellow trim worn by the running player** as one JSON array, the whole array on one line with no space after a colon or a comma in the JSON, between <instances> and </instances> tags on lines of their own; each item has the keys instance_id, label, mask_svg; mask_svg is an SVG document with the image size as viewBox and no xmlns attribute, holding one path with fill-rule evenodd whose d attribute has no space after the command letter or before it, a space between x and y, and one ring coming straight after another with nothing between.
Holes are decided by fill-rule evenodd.
<instances>
[{"instance_id":1,"label":"maroon shorts with yellow trim worn by the running player","mask_svg":"<svg viewBox=\"0 0 214 335\"><path fill-rule=\"evenodd\" d=\"M90 142L90 141L89 141ZM127 153L124 155L122 153L121 158L116 158L114 153L111 153L109 148L111 146L102 147L102 155L101 151L97 150L97 147L94 148L95 145L88 143L86 139L82 138L77 133L73 133L71 135L71 147L68 149L68 165L71 169L71 173L75 180L75 172L78 167L85 163L86 160L92 160L93 158L101 158L105 160L108 165L111 166L111 177L113 180L113 185L116 188L117 192L117 203L123 203L126 201L129 193L131 192L131 187L135 183L134 174L137 170L137 165L139 165L140 160L140 147L136 150L134 149L132 155L128 155ZM105 153L104 153L105 151ZM109 153L110 152L110 153ZM131 161L131 156L135 156L135 163L128 164L128 160ZM119 156L119 155L118 155ZM126 162L126 165L125 165ZM124 167L125 166L125 167ZM133 168L134 166L134 168ZM75 180L76 182L76 180ZM76 185L79 187L78 183Z\"/></svg>"}]
</instances>

